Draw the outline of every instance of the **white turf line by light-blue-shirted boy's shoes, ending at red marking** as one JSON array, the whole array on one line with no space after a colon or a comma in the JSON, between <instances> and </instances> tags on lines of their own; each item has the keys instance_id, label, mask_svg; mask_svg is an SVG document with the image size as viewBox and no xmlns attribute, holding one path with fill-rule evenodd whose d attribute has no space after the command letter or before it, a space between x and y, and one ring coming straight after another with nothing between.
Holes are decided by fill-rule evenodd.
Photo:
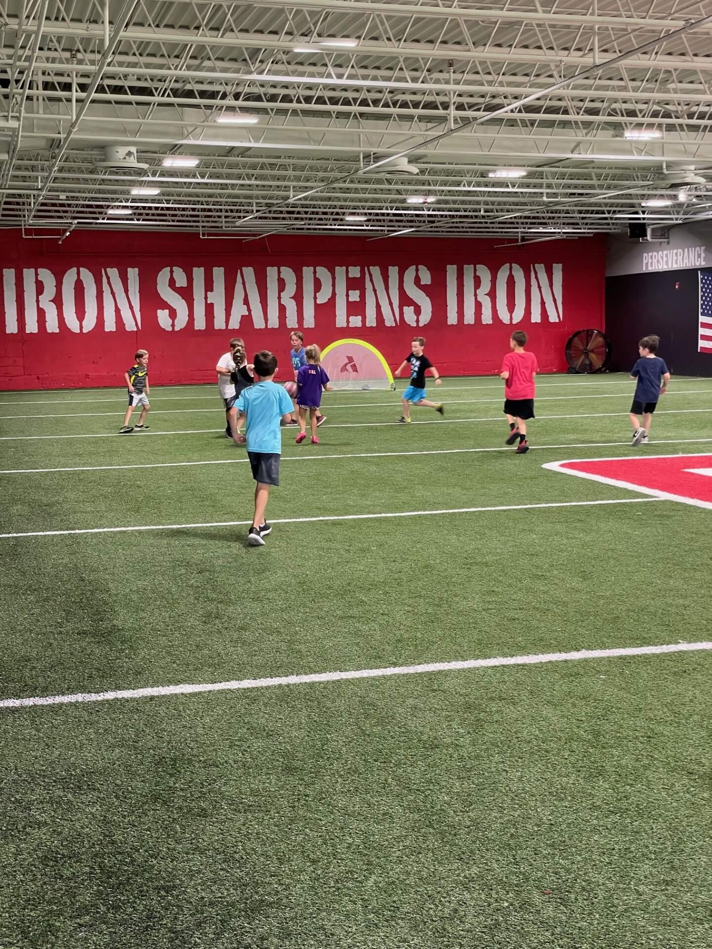
<instances>
[{"instance_id":1,"label":"white turf line by light-blue-shirted boy's shoes, ending at red marking","mask_svg":"<svg viewBox=\"0 0 712 949\"><path fill-rule=\"evenodd\" d=\"M488 508L440 508L436 511L396 511L374 514L324 514L320 517L270 518L271 524L312 524L322 521L371 521L385 517L423 517L425 514L474 514L486 511L532 511L535 508L587 508L599 504L635 504L657 501L657 497L621 497L606 501L548 501L540 504L497 504ZM25 530L21 533L0 533L3 537L61 537L80 533L124 533L133 530L189 530L190 528L234 528L252 521L206 521L199 524L141 524L126 528L73 528L71 530Z\"/></svg>"}]
</instances>

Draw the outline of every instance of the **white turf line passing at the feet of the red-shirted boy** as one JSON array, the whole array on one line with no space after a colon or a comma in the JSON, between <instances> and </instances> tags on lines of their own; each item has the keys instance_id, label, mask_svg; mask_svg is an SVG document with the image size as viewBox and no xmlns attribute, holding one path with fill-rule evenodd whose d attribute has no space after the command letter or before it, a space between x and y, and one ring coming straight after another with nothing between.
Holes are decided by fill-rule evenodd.
<instances>
[{"instance_id":1,"label":"white turf line passing at the feet of the red-shirted boy","mask_svg":"<svg viewBox=\"0 0 712 949\"><path fill-rule=\"evenodd\" d=\"M691 445L700 442L712 441L712 438L663 438L656 441L656 445ZM627 441L582 441L578 444L566 445L530 445L529 450L547 451L554 449L571 448L616 448L630 447ZM514 448L499 445L497 448L432 448L422 452L354 452L348 455L311 455L309 449L304 455L283 455L282 461L330 461L337 458L402 458L419 455L478 455L482 452L504 452L512 454ZM678 457L670 455L665 457ZM147 464L133 465L82 465L76 468L7 468L0 470L0 474L53 474L56 472L107 472L124 471L130 468L197 468L200 465L244 465L248 458L217 458L210 461L154 461ZM543 466L542 466L543 467Z\"/></svg>"}]
</instances>

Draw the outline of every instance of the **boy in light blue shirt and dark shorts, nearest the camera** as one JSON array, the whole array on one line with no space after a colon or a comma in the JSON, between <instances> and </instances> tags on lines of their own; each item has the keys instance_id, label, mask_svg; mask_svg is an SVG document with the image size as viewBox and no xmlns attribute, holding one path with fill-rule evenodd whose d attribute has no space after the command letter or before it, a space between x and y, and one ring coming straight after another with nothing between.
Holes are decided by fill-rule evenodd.
<instances>
[{"instance_id":1,"label":"boy in light blue shirt and dark shorts, nearest the camera","mask_svg":"<svg viewBox=\"0 0 712 949\"><path fill-rule=\"evenodd\" d=\"M284 387L272 382L277 358L263 349L254 357L254 383L244 389L234 408L247 418L247 455L257 482L254 489L253 526L248 530L250 547L264 547L272 527L265 521L270 485L279 484L279 459L282 455L280 421L291 421L291 400Z\"/></svg>"}]
</instances>

